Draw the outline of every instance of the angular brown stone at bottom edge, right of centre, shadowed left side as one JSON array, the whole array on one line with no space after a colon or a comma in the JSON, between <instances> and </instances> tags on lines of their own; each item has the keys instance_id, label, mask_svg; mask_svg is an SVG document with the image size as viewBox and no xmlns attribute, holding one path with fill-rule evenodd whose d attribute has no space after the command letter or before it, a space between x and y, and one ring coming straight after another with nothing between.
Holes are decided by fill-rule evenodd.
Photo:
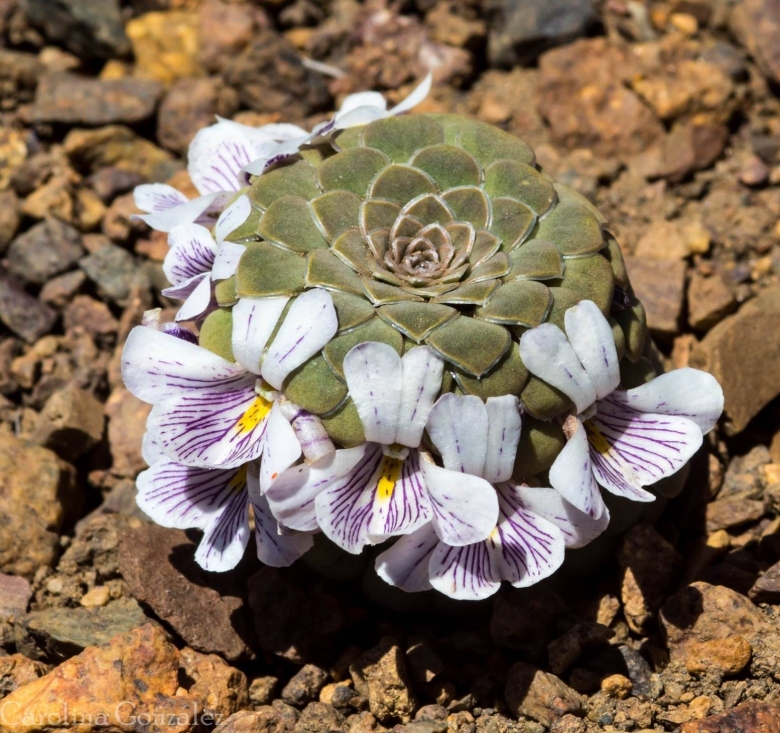
<instances>
[{"instance_id":1,"label":"angular brown stone at bottom edge, right of centre, shadowed left side","mask_svg":"<svg viewBox=\"0 0 780 733\"><path fill-rule=\"evenodd\" d=\"M550 726L566 714L581 715L584 699L555 675L525 662L515 662L507 675L504 698L514 715Z\"/></svg>"}]
</instances>

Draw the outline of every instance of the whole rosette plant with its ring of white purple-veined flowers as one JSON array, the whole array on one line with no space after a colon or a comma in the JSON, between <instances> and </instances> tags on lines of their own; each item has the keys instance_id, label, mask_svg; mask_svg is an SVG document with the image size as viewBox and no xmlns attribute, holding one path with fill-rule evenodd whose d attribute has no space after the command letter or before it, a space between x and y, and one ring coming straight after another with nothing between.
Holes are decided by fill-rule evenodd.
<instances>
[{"instance_id":1,"label":"whole rosette plant with its ring of white purple-veined flowers","mask_svg":"<svg viewBox=\"0 0 780 733\"><path fill-rule=\"evenodd\" d=\"M208 570L252 531L275 567L321 532L386 543L376 572L406 591L531 585L606 529L602 488L652 501L720 416L710 375L654 377L616 243L528 146L394 117L429 83L310 133L220 120L190 150L199 198L137 191L199 326L150 312L125 346L153 405L138 503L202 530Z\"/></svg>"}]
</instances>

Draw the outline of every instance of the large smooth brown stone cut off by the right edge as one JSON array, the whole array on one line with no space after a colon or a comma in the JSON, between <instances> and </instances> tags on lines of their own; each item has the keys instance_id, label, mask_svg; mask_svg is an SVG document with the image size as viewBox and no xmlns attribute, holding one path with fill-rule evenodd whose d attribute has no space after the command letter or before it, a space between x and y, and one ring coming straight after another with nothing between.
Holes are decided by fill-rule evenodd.
<instances>
[{"instance_id":1,"label":"large smooth brown stone cut off by the right edge","mask_svg":"<svg viewBox=\"0 0 780 733\"><path fill-rule=\"evenodd\" d=\"M721 321L691 353L690 365L710 372L723 387L730 435L744 430L780 394L779 317L775 286Z\"/></svg>"}]
</instances>

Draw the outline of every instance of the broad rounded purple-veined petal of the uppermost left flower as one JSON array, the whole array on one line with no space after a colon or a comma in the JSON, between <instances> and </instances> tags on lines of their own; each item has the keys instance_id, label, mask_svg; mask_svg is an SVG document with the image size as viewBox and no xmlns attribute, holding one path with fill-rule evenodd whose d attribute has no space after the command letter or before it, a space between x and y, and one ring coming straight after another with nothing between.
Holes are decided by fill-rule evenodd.
<instances>
[{"instance_id":1,"label":"broad rounded purple-veined petal of the uppermost left flower","mask_svg":"<svg viewBox=\"0 0 780 733\"><path fill-rule=\"evenodd\" d=\"M242 170L255 157L252 143L233 125L218 122L200 130L190 143L187 170L202 194L238 191Z\"/></svg>"}]
</instances>

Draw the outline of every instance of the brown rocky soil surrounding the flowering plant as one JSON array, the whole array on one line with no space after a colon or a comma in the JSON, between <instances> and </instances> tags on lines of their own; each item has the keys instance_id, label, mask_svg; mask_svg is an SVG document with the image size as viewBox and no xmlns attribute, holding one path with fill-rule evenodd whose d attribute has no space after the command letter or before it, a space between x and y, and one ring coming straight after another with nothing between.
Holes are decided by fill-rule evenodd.
<instances>
[{"instance_id":1,"label":"brown rocky soil surrounding the flowering plant","mask_svg":"<svg viewBox=\"0 0 780 733\"><path fill-rule=\"evenodd\" d=\"M777 0L0 0L0 731L778 733L778 37ZM421 111L607 215L726 415L654 526L486 604L378 604L343 557L208 575L134 504L119 353L173 304L132 188L188 190L214 115L308 126L429 67Z\"/></svg>"}]
</instances>

